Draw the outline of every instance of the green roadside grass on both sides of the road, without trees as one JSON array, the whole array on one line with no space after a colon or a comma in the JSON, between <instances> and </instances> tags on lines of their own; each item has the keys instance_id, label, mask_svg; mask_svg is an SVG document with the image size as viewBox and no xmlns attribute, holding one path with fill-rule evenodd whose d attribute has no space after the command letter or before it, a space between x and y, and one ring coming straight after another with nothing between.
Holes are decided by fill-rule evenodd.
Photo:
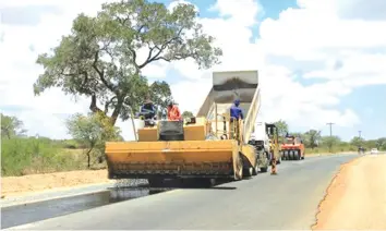
<instances>
[{"instance_id":1,"label":"green roadside grass on both sides of the road, without trees","mask_svg":"<svg viewBox=\"0 0 386 231\"><path fill-rule=\"evenodd\" d=\"M352 146L336 146L333 153L355 151ZM326 147L306 148L306 155L328 154ZM104 169L92 157L92 169ZM86 168L85 149L75 142L58 142L49 138L15 137L1 139L1 174L17 177L34 173L82 170Z\"/></svg>"}]
</instances>

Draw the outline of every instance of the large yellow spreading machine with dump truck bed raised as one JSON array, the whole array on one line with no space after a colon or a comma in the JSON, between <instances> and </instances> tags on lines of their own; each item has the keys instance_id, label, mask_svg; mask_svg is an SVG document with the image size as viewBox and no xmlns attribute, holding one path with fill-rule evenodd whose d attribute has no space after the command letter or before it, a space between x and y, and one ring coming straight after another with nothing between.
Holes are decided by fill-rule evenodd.
<instances>
[{"instance_id":1,"label":"large yellow spreading machine with dump truck bed raised","mask_svg":"<svg viewBox=\"0 0 386 231\"><path fill-rule=\"evenodd\" d=\"M244 120L230 118L234 99ZM137 141L107 142L108 178L146 179L150 186L161 186L169 179L207 182L255 175L256 150L248 141L260 106L257 71L214 72L196 117L158 120L137 129Z\"/></svg>"}]
</instances>

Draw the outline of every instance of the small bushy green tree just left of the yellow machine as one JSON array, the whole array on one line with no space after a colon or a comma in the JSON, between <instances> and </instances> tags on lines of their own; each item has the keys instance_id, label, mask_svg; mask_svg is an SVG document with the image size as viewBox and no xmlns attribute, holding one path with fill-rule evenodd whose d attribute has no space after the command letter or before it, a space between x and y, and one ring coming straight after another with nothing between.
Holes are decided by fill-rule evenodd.
<instances>
[{"instance_id":1,"label":"small bushy green tree just left of the yellow machine","mask_svg":"<svg viewBox=\"0 0 386 231\"><path fill-rule=\"evenodd\" d=\"M120 131L112 126L109 119L102 113L91 113L83 115L76 113L65 122L69 133L77 142L87 147L87 167L91 167L91 154L97 149L104 153L105 143L107 141L116 141L120 138Z\"/></svg>"}]
</instances>

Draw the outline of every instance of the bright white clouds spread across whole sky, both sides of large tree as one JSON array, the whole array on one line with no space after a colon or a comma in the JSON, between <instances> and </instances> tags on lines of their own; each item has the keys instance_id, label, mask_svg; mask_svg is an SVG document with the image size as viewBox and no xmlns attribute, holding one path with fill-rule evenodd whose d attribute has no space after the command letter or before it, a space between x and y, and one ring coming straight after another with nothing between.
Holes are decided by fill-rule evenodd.
<instances>
[{"instance_id":1,"label":"bright white clouds spread across whole sky, both sides of large tree","mask_svg":"<svg viewBox=\"0 0 386 231\"><path fill-rule=\"evenodd\" d=\"M383 14L376 19L371 16L374 11L371 5L379 1L367 0L366 12L363 12L357 5L363 0L298 0L301 9L287 9L278 20L256 22L257 13L263 9L255 1L218 0L210 10L221 17L201 19L200 22L224 50L222 63L213 70L260 70L261 119L285 119L290 125L304 127L318 127L327 121L352 126L361 122L360 118L349 108L338 110L340 97L355 87L386 84L383 65L386 34L381 29L386 26L386 19ZM62 137L65 131L55 129L62 126L62 119L56 114L88 110L87 99L74 104L57 89L34 97L32 84L41 73L41 68L34 63L37 53L57 46L60 37L70 32L77 13L95 14L101 2L105 1L0 0L0 9L51 4L61 10L59 14L39 15L37 26L1 25L0 51L7 56L0 57L0 93L7 100L1 100L0 108L9 105L32 107L33 110L19 115L34 133ZM172 2L169 8L177 3ZM366 21L367 17L372 21ZM252 41L256 23L260 23L261 38ZM34 51L29 50L31 45ZM145 53L138 56L142 59ZM310 62L317 68L311 68ZM324 78L326 83L302 85L293 73L299 69L305 72L302 77ZM193 61L179 61L152 64L144 73L166 77L170 70L186 78L171 85L180 108L196 112L212 87L210 70L200 71ZM36 125L43 123L49 125ZM125 137L132 137L130 121L119 122L119 125Z\"/></svg>"}]
</instances>

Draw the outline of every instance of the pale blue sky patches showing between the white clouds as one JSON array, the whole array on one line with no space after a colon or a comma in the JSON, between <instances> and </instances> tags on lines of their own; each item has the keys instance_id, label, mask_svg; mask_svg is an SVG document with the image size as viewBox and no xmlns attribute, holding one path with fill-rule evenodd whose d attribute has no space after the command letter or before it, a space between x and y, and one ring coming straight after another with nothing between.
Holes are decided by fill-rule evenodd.
<instances>
[{"instance_id":1,"label":"pale blue sky patches showing between the white clouds","mask_svg":"<svg viewBox=\"0 0 386 231\"><path fill-rule=\"evenodd\" d=\"M169 3L170 1L165 1ZM214 11L208 11L210 5L215 4L215 0L193 0L191 1L201 9L201 16L203 17L217 17L218 13ZM264 21L267 17L277 20L281 11L292 8L299 9L295 0L260 0L260 4L263 8L263 13L256 19L258 21ZM204 9L204 10L203 10ZM260 37L260 24L257 24L253 31L254 38ZM295 71L295 70L292 70ZM174 76L174 75L171 75ZM176 83L176 77L170 77L171 83ZM323 78L309 80L301 77L298 78L299 82L304 86L311 86L317 83L325 83ZM351 94L341 97L340 102L337 106L338 109L351 108L361 118L361 124L350 127L341 127L339 124L333 125L333 133L335 135L341 136L343 139L350 139L352 136L358 135L358 131L362 131L362 136L369 138L376 138L386 136L386 86L364 86L358 89L354 89ZM326 123L330 122L326 120ZM334 122L334 121L331 121ZM297 124L290 124L290 129L294 131L304 131L304 127ZM323 135L329 134L329 126L318 126L318 130L322 131Z\"/></svg>"}]
</instances>

